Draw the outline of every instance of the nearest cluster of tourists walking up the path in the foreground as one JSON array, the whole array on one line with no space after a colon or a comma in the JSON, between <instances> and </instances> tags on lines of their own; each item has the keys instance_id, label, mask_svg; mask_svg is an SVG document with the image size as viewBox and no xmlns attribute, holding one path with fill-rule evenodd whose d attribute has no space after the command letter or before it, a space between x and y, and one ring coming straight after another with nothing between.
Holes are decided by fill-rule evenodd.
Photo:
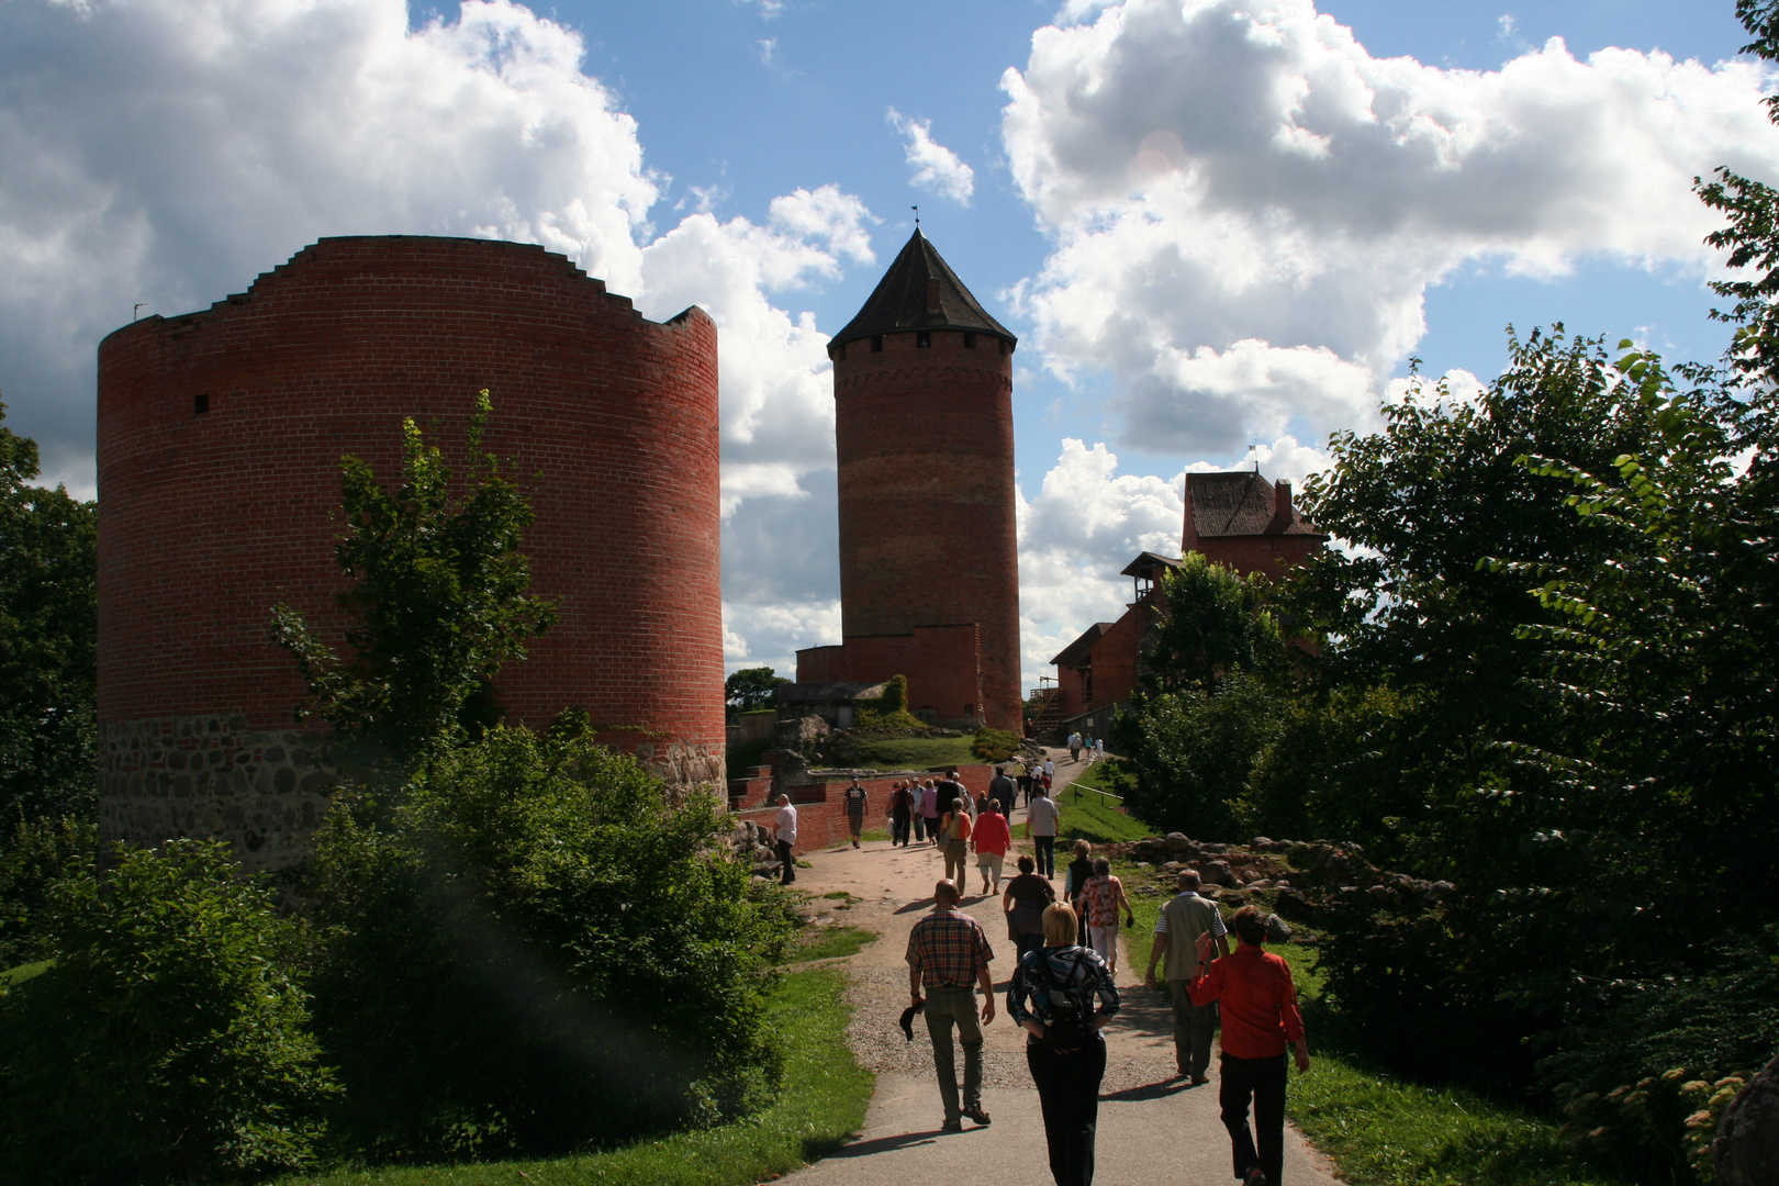
<instances>
[{"instance_id":1,"label":"nearest cluster of tourists walking up the path in the foreground","mask_svg":"<svg viewBox=\"0 0 1779 1186\"><path fill-rule=\"evenodd\" d=\"M1082 852L1076 864L1087 857L1089 852ZM1094 935L1094 946L1080 942L1076 909L1053 902L1051 878L1039 877L1035 868L1032 857L1021 855L1019 877L1009 882L1003 900L1009 934L1018 948L1005 998L1007 1015L1026 1030L1026 1067L1044 1115L1051 1177L1057 1186L1091 1186L1099 1083L1107 1069L1101 1030L1119 1010L1119 989L1114 966L1098 944L1105 934ZM1094 861L1089 868L1092 873L1075 898L1087 905L1089 918L1096 907L1114 907L1110 941L1115 953L1115 905L1124 905L1126 923L1135 919L1107 862ZM1156 921L1146 983L1155 987L1156 966L1165 958L1178 1078L1194 1086L1210 1081L1210 1037L1222 1006L1219 1106L1229 1133L1235 1177L1244 1186L1281 1186L1286 1051L1292 1051L1300 1072L1309 1069L1297 989L1284 960L1263 950L1265 914L1254 907L1236 910L1229 925L1240 944L1231 953L1222 914L1197 891L1199 875L1190 869L1181 873L1178 896ZM914 1008L923 1008L932 1038L945 1108L941 1131L957 1133L964 1118L978 1126L991 1122L982 1108L982 1026L994 1021L994 978L989 973L994 951L982 925L959 910L957 882L941 880L932 898L932 912L914 925L907 939L909 994ZM980 1012L977 989L984 998ZM964 1051L962 1092L957 1046Z\"/></svg>"}]
</instances>

